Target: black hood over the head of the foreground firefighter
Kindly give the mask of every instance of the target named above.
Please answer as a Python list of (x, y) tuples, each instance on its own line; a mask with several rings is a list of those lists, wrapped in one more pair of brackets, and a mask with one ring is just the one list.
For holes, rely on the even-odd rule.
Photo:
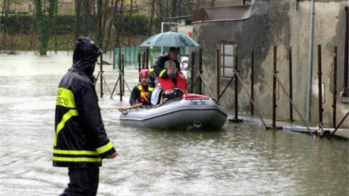
[(88, 77), (95, 71), (101, 49), (88, 37), (79, 37), (75, 42), (73, 67), (81, 69)]

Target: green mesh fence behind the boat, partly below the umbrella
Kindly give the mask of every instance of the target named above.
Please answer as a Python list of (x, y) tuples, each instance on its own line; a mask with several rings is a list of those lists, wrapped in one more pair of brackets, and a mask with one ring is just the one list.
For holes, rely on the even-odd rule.
[[(163, 47), (163, 51), (166, 54), (168, 52), (168, 47)], [(114, 69), (119, 69), (119, 53), (120, 56), (124, 54), (124, 66), (134, 66), (137, 68), (139, 62), (138, 62), (138, 53), (144, 53), (146, 52), (145, 47), (120, 47), (120, 48), (114, 48)], [(185, 47), (180, 48), (180, 53), (185, 54), (186, 50)], [(161, 55), (161, 47), (150, 47), (149, 48), (149, 67), (153, 65), (155, 59), (157, 56)]]

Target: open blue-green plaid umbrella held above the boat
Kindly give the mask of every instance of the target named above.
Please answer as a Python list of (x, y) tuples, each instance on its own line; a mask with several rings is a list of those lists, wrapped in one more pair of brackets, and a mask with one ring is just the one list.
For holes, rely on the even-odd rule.
[(163, 46), (163, 47), (198, 47), (199, 44), (192, 38), (177, 32), (165, 32), (151, 36), (145, 40), (141, 47)]

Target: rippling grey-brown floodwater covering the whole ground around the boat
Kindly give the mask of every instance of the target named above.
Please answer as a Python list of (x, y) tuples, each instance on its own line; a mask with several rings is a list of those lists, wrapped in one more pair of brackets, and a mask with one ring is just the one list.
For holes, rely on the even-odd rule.
[[(0, 195), (65, 189), (67, 168), (52, 166), (52, 143), (57, 86), (71, 64), (72, 56), (0, 55)], [(116, 73), (104, 69), (112, 90)], [(135, 74), (126, 71), (130, 88)], [(349, 195), (346, 141), (246, 123), (204, 131), (125, 127), (116, 108), (128, 97), (104, 93), (102, 117), (120, 156), (103, 161), (97, 195)]]

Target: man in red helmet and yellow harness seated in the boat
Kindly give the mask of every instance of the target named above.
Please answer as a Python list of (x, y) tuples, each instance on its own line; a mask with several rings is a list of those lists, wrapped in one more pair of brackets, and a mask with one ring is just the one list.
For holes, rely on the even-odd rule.
[(131, 92), (129, 103), (135, 105), (142, 103), (143, 105), (148, 105), (148, 83), (149, 83), (149, 70), (142, 69), (139, 73), (139, 78), (141, 82), (134, 86)]

